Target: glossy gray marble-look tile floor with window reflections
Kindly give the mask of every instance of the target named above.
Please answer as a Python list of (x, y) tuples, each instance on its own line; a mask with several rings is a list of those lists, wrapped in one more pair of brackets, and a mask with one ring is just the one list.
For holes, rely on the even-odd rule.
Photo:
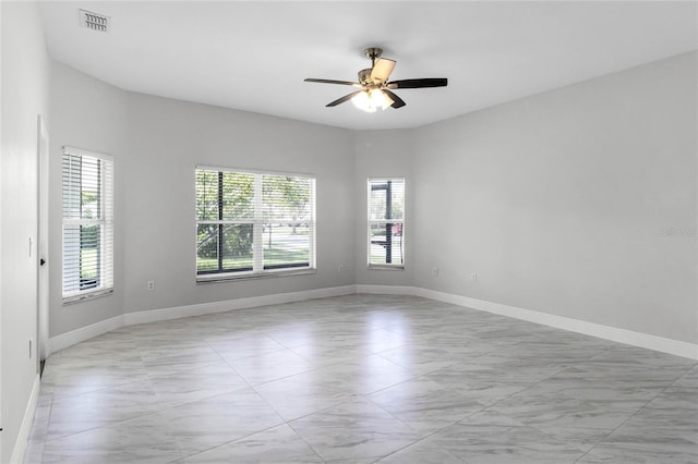
[(698, 463), (698, 364), (350, 295), (125, 327), (46, 363), (26, 463)]

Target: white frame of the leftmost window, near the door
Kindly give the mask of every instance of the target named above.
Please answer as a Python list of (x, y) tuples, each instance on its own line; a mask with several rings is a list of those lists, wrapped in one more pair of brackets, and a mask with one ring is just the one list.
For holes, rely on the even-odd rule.
[[(63, 167), (64, 157), (73, 156), (82, 158), (92, 158), (100, 161), (100, 182), (99, 182), (99, 200), (101, 216), (97, 219), (82, 219), (82, 218), (67, 218), (64, 216), (64, 205), (61, 207), (62, 218), (62, 300), (63, 304), (70, 304), (80, 302), (87, 298), (94, 298), (98, 296), (105, 296), (113, 293), (113, 184), (115, 184), (115, 162), (111, 155), (100, 154), (97, 151), (89, 151), (82, 148), (74, 148), (64, 146), (63, 154), (61, 156), (61, 166)], [(64, 174), (64, 173), (63, 173)], [(64, 200), (65, 180), (61, 181), (61, 202)], [(82, 191), (81, 191), (82, 196)], [(67, 279), (73, 280), (75, 272), (80, 276), (80, 264), (76, 267), (70, 267), (67, 262), (67, 242), (65, 242), (65, 227), (67, 225), (100, 225), (99, 235), (99, 284), (95, 288), (67, 290), (67, 286), (73, 286), (67, 284)], [(74, 252), (73, 252), (74, 253)], [(76, 268), (76, 269), (75, 269)]]

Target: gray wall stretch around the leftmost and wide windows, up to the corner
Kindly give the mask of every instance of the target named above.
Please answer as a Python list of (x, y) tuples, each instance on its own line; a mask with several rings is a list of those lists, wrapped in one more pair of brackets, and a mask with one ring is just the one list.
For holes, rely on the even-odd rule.
[[(51, 337), (125, 313), (353, 283), (352, 132), (132, 94), (59, 63), (51, 84)], [(112, 155), (116, 173), (115, 293), (65, 306), (63, 145)], [(314, 174), (317, 272), (196, 284), (197, 164)], [(148, 280), (155, 291), (147, 291)]]

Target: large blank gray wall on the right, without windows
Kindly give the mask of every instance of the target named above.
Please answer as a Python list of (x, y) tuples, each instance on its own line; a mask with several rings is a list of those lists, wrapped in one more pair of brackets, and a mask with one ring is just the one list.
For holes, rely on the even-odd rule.
[(419, 130), (414, 283), (696, 343), (696, 82), (693, 52)]

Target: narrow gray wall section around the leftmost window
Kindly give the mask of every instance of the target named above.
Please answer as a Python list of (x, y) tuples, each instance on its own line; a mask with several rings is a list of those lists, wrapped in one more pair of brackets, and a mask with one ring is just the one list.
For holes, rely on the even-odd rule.
[(49, 330), (50, 337), (89, 326), (123, 312), (123, 221), (115, 223), (115, 293), (70, 305), (62, 304), (61, 155), (63, 146), (112, 155), (115, 158), (115, 216), (124, 217), (123, 171), (127, 154), (127, 108), (123, 91), (52, 62), (49, 162)]

